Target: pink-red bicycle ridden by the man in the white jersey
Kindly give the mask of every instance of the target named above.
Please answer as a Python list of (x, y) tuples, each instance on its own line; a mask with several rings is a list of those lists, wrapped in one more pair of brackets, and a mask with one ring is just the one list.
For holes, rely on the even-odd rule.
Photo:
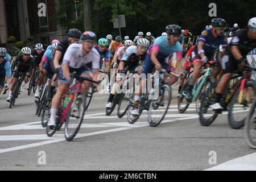
[[(56, 127), (54, 129), (51, 129), (48, 125), (46, 127), (46, 133), (48, 137), (51, 137), (55, 133), (56, 129), (60, 128), (64, 122), (65, 122), (65, 127), (64, 127), (65, 139), (67, 141), (71, 141), (76, 136), (76, 134), (80, 129), (82, 119), (84, 118), (85, 106), (86, 106), (86, 97), (83, 96), (84, 94), (80, 94), (82, 82), (90, 81), (96, 84), (100, 83), (100, 82), (91, 80), (90, 78), (87, 78), (87, 77), (80, 77), (78, 75), (75, 75), (75, 73), (71, 74), (71, 78), (75, 78), (79, 82), (75, 85), (69, 86), (68, 92), (63, 96), (63, 99), (61, 101), (61, 107), (56, 114)], [(77, 110), (73, 108), (75, 105), (77, 105)], [(47, 122), (49, 121), (50, 115), (51, 113), (49, 112)], [(76, 120), (77, 123), (73, 124), (72, 120)]]

